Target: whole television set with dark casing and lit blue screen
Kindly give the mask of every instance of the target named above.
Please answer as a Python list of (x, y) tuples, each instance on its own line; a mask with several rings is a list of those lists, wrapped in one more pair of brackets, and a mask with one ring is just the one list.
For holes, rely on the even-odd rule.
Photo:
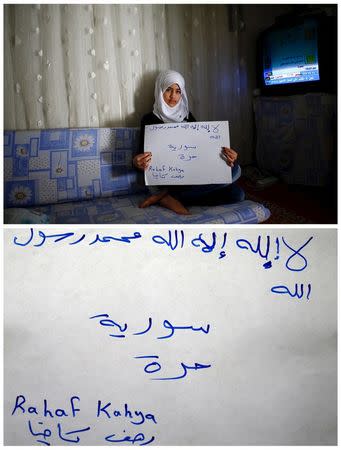
[(336, 20), (284, 17), (261, 33), (258, 77), (263, 95), (336, 91)]

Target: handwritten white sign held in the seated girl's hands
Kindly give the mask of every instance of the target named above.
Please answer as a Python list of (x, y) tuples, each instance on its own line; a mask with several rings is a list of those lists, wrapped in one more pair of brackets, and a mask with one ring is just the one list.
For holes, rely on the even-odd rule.
[(147, 125), (144, 151), (152, 152), (146, 185), (227, 184), (231, 168), (222, 156), (230, 147), (228, 122)]

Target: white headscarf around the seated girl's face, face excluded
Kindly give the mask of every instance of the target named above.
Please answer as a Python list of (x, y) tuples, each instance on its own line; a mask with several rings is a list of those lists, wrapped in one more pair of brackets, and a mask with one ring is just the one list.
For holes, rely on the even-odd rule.
[[(163, 99), (165, 90), (176, 83), (181, 89), (179, 102), (170, 107)], [(185, 80), (179, 72), (166, 70), (161, 72), (155, 81), (155, 102), (153, 113), (163, 122), (183, 122), (189, 114), (188, 99), (185, 90)]]

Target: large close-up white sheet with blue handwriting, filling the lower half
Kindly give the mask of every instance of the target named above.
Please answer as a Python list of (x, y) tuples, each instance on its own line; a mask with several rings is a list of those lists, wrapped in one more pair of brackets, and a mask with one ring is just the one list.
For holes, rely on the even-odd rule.
[(336, 444), (336, 247), (327, 229), (5, 230), (5, 444)]

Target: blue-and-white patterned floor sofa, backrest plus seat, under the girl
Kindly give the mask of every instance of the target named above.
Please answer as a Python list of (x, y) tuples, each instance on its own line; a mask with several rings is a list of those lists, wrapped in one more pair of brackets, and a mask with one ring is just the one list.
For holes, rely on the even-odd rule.
[(156, 205), (138, 208), (146, 195), (143, 174), (132, 166), (138, 138), (138, 128), (5, 131), (5, 223), (20, 223), (28, 211), (37, 223), (43, 217), (64, 224), (239, 224), (270, 216), (252, 201), (192, 207), (190, 216)]

